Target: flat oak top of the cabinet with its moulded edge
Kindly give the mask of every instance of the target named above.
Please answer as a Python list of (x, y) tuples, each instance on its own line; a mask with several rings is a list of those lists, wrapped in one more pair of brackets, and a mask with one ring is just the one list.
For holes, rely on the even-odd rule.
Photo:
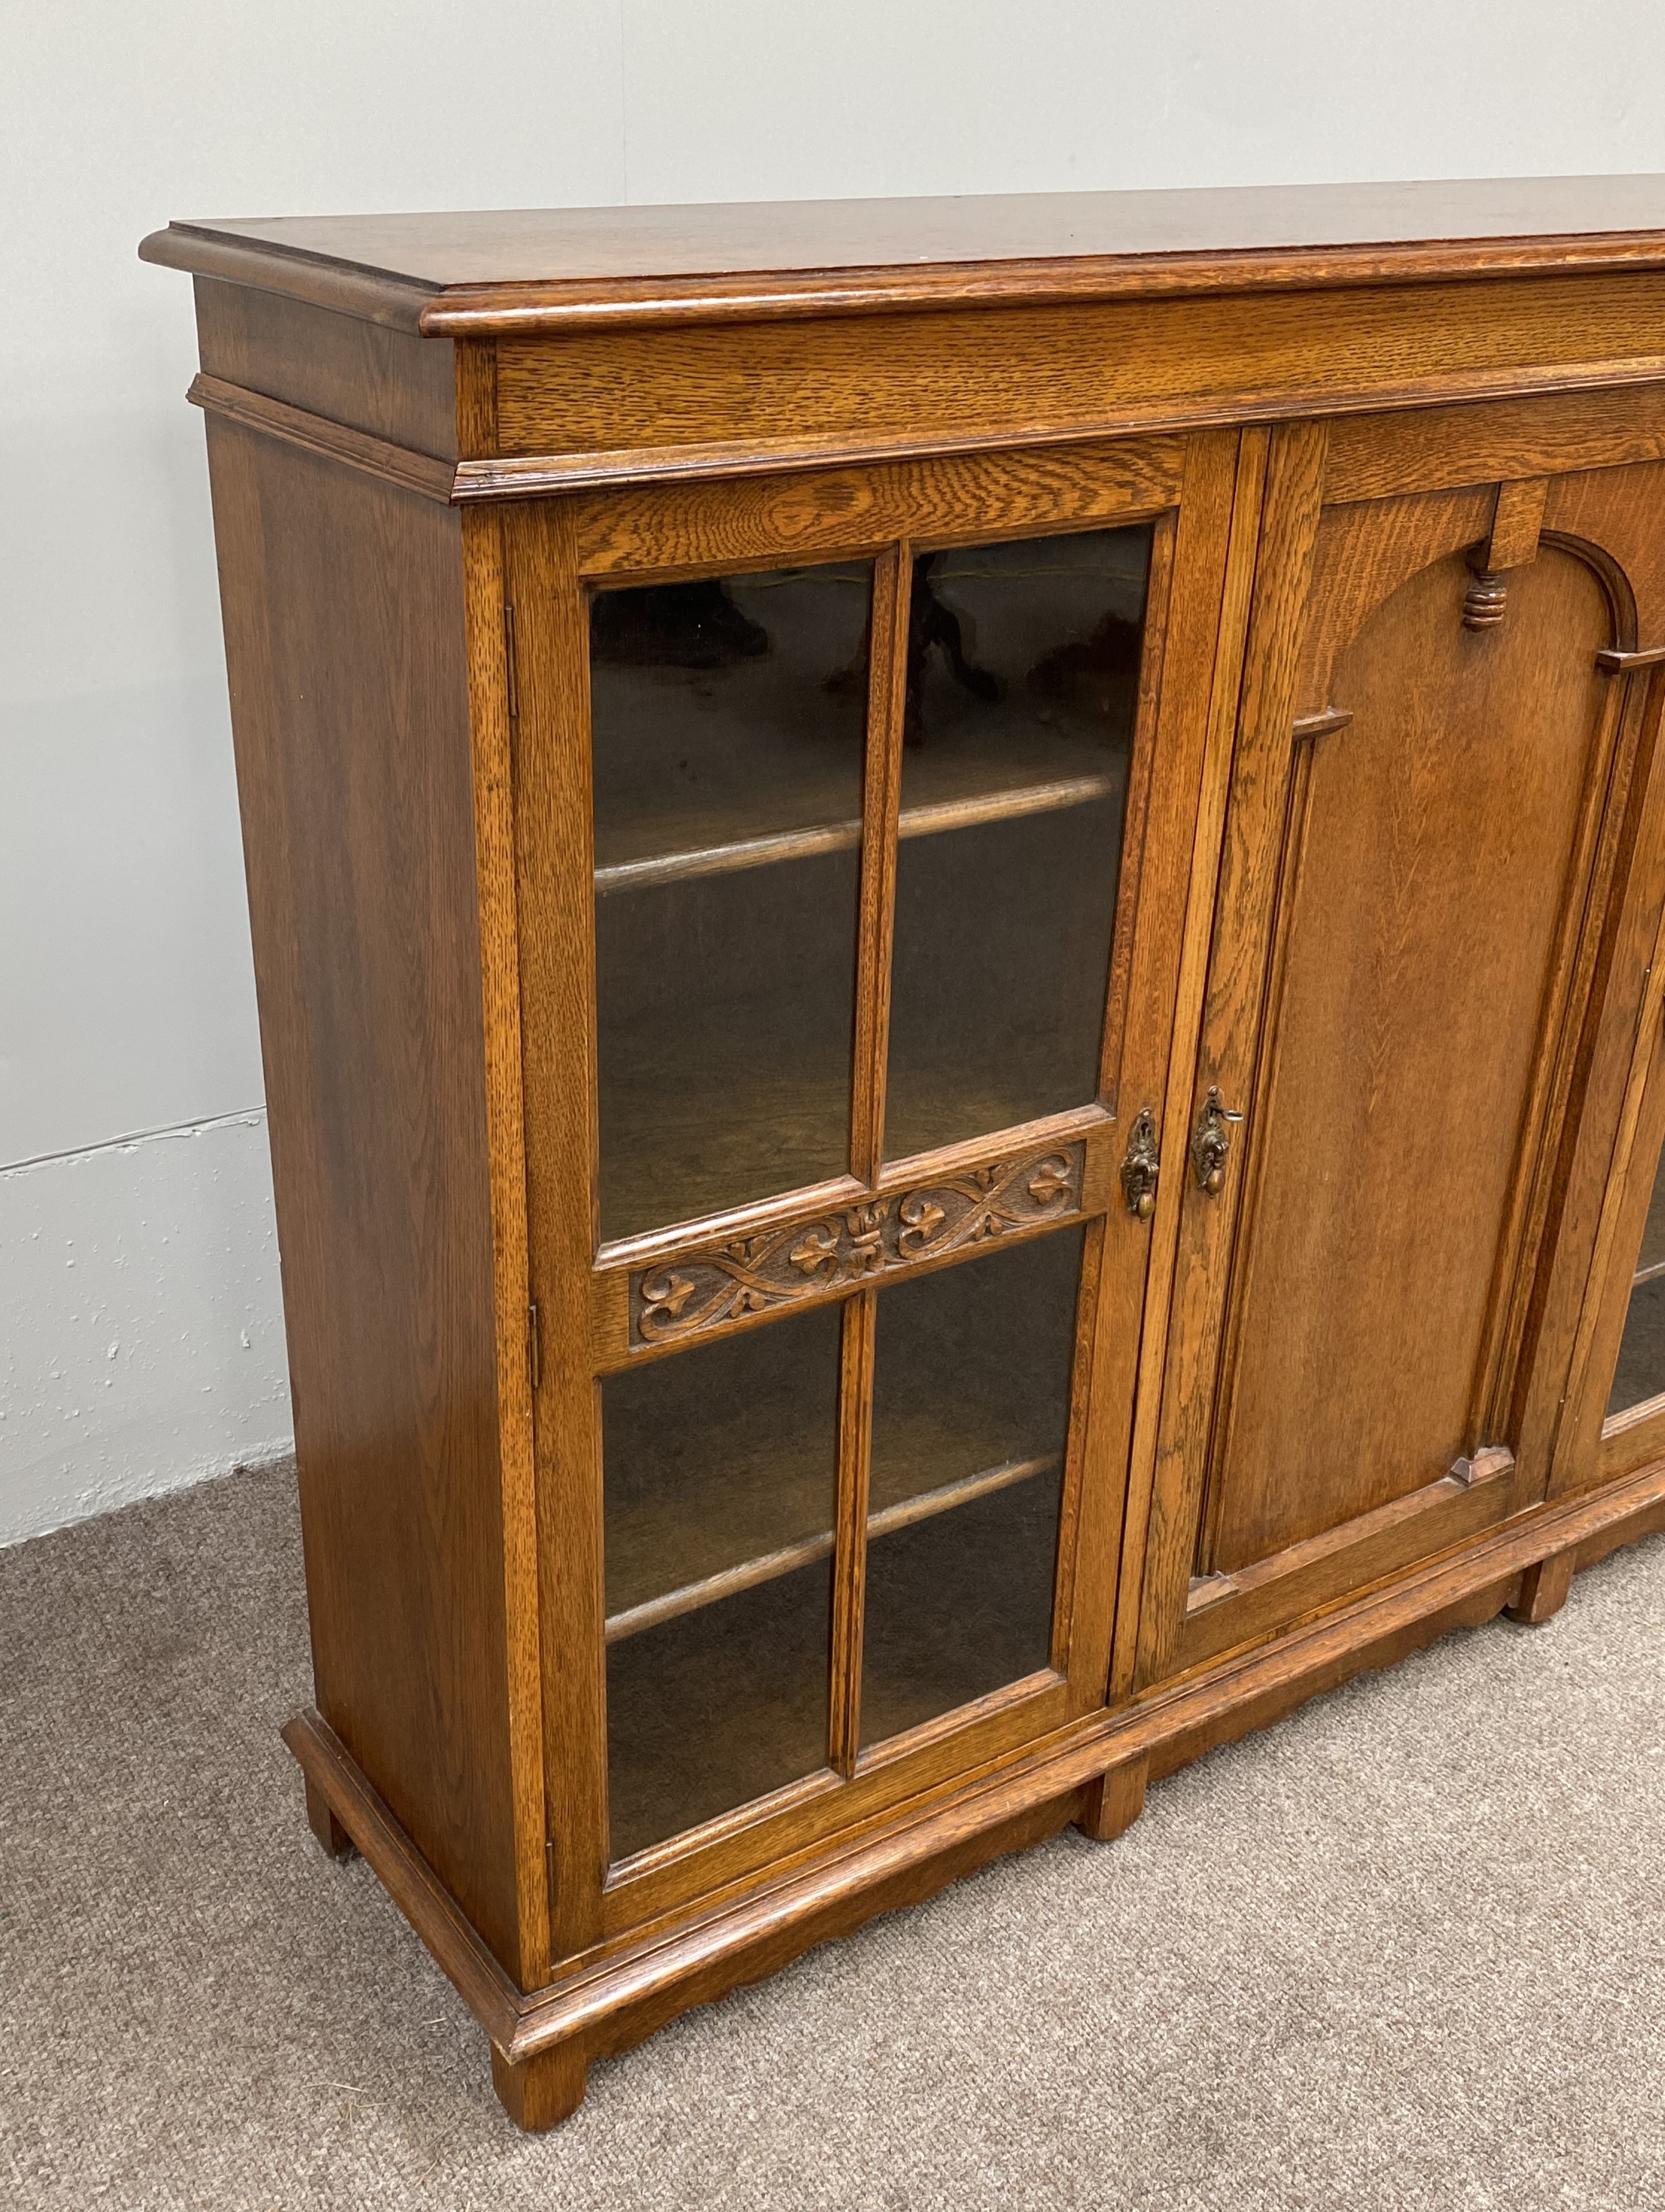
[(184, 221), (144, 259), (431, 336), (1665, 265), (1665, 177)]

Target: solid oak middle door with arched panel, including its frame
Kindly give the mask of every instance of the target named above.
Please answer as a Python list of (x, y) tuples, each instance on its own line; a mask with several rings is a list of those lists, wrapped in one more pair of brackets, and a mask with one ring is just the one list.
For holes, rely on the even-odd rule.
[(1665, 635), (1665, 469), (1592, 442), (1274, 438), (1123, 1690), (1546, 1495)]

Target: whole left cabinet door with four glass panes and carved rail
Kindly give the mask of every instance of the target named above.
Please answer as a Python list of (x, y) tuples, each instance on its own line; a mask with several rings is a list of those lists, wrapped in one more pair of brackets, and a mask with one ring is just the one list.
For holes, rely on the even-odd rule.
[(568, 1953), (1103, 1701), (1236, 447), (504, 522)]

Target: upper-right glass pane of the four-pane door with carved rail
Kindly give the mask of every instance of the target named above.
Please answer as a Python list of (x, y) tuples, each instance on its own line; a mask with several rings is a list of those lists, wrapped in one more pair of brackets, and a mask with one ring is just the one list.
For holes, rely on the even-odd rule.
[(1150, 524), (913, 564), (891, 1159), (1099, 1091)]

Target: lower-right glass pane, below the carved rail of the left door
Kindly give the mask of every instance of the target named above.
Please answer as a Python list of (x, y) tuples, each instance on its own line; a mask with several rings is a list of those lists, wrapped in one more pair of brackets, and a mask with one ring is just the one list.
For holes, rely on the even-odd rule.
[(1081, 1230), (878, 1296), (862, 1745), (1048, 1663)]

